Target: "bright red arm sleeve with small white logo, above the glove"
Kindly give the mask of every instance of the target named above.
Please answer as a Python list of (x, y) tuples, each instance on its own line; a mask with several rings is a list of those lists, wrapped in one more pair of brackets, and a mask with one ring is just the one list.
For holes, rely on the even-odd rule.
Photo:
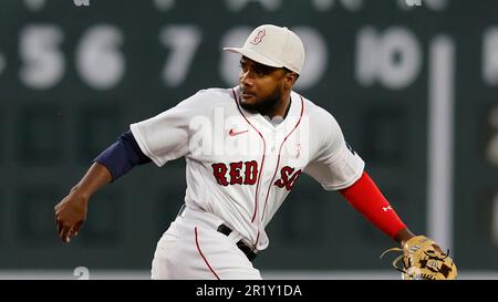
[(406, 228), (366, 171), (352, 186), (339, 191), (353, 208), (387, 236), (394, 238)]

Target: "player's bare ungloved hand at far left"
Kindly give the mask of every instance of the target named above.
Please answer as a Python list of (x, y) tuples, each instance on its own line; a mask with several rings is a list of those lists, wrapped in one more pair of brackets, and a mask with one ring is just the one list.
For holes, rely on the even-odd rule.
[(69, 243), (86, 219), (89, 198), (71, 191), (54, 207), (59, 238)]

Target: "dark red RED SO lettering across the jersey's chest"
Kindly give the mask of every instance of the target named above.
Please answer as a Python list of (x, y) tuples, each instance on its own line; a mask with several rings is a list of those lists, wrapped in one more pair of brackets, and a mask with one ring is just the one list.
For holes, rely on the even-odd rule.
[[(256, 185), (258, 177), (258, 162), (237, 162), (237, 163), (216, 163), (211, 165), (212, 175), (215, 176), (218, 185), (227, 187), (228, 185)], [(242, 167), (245, 167), (245, 173), (241, 173)], [(301, 169), (294, 171), (294, 168), (284, 166), (280, 170), (280, 179), (274, 181), (279, 188), (286, 188), (288, 191), (292, 189), (295, 181), (301, 175)]]

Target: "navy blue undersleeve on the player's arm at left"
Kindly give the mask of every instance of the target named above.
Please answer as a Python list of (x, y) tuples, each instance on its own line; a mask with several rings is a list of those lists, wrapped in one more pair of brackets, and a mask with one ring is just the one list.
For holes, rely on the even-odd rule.
[(116, 143), (101, 153), (93, 162), (104, 165), (115, 181), (136, 165), (151, 163), (133, 137), (131, 131), (123, 133)]

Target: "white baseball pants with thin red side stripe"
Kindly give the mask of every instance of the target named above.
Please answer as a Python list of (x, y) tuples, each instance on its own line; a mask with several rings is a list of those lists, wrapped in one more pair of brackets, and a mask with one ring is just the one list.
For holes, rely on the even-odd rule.
[(240, 235), (218, 232), (221, 223), (209, 212), (186, 207), (157, 242), (152, 279), (261, 279), (236, 244)]

